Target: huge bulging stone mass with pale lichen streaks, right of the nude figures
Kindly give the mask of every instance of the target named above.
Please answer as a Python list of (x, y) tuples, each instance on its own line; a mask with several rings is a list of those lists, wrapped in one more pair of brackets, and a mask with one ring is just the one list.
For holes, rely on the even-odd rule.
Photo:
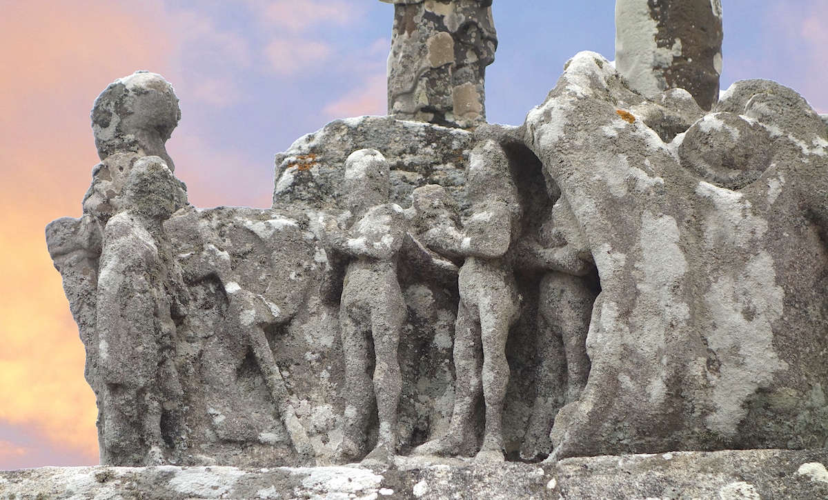
[[(813, 114), (789, 94), (762, 99)], [(825, 140), (758, 121), (768, 168), (728, 190), (680, 165), (677, 148), (702, 146), (691, 132), (667, 144), (619, 113), (641, 102), (581, 53), (527, 117), (600, 276), (589, 380), (556, 417), (553, 457), (823, 445)], [(731, 132), (709, 129), (725, 136), (714, 143)]]

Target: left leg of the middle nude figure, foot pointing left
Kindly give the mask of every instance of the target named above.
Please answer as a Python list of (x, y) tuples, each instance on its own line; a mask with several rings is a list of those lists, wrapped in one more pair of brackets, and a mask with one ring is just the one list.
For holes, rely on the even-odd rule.
[(466, 439), (471, 438), (474, 404), (480, 395), (483, 351), (480, 347), (480, 323), (477, 306), (460, 300), (455, 323), (455, 407), (449, 430), (442, 437), (417, 446), (413, 454), (459, 454)]

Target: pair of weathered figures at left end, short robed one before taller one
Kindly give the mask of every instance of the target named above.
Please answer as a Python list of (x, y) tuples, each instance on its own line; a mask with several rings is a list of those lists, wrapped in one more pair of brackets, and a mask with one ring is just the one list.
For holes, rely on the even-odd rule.
[(102, 161), (84, 214), (46, 227), (101, 409), (103, 463), (163, 463), (180, 439), (181, 387), (170, 352), (181, 280), (162, 228), (187, 204), (164, 146), (179, 115), (160, 75), (110, 84), (92, 110)]

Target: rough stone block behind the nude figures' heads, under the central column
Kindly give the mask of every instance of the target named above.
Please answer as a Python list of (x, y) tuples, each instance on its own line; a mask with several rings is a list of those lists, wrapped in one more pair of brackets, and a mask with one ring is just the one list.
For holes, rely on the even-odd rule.
[(410, 206), (414, 188), (443, 185), (461, 206), (465, 168), (472, 149), (470, 132), (392, 117), (336, 120), (301, 137), (276, 156), (273, 207), (345, 209), (345, 159), (359, 149), (374, 149), (391, 169), (392, 203)]

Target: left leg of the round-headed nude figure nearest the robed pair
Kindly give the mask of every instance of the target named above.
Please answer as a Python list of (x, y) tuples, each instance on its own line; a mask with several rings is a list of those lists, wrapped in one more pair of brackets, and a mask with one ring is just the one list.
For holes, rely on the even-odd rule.
[(368, 410), (373, 382), (368, 376), (367, 308), (343, 302), (339, 310), (339, 329), (345, 355), (345, 428), (343, 458), (359, 459), (364, 454)]

